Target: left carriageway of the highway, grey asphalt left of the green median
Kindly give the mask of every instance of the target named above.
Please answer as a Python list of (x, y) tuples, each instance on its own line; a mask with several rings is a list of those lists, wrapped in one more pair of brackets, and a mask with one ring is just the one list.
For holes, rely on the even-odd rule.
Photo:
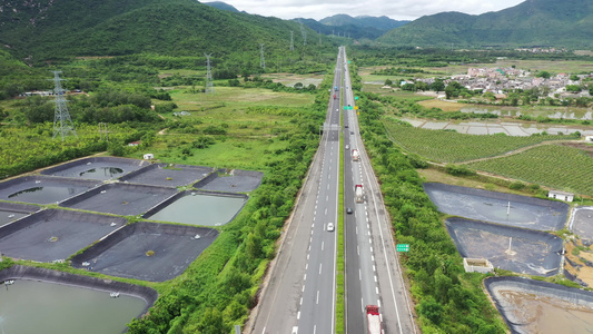
[[(339, 89), (342, 80), (338, 56), (334, 87)], [(332, 90), (319, 149), (289, 219), (254, 324), (246, 328), (250, 333), (334, 333), (342, 127), (340, 92)], [(334, 230), (328, 230), (329, 223)]]

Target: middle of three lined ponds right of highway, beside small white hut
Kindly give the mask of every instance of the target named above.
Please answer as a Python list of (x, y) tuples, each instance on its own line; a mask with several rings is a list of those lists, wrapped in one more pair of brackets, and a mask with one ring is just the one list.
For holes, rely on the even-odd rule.
[[(494, 267), (515, 273), (559, 273), (563, 245), (555, 235), (464, 218), (447, 218), (445, 225), (463, 257), (486, 258)], [(506, 253), (511, 238), (512, 255)]]

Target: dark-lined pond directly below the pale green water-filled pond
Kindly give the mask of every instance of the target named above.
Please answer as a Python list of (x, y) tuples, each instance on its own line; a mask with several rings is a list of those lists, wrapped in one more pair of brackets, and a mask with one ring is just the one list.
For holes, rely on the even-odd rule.
[[(165, 282), (180, 275), (217, 236), (214, 228), (140, 222), (118, 229), (71, 261), (76, 268)], [(154, 252), (150, 256), (149, 250)]]

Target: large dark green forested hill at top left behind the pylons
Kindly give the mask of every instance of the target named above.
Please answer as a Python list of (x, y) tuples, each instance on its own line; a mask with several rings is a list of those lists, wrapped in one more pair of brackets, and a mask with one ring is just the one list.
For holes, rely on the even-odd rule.
[[(0, 43), (33, 60), (69, 56), (231, 53), (288, 49), (298, 23), (195, 0), (4, 0)], [(315, 32), (309, 31), (315, 38)], [(295, 46), (299, 43), (295, 33)]]

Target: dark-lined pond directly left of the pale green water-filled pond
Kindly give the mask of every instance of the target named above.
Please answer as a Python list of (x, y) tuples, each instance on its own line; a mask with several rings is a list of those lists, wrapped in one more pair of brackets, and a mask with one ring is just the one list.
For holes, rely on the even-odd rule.
[(132, 184), (106, 184), (60, 206), (115, 215), (140, 215), (177, 193), (176, 188)]

